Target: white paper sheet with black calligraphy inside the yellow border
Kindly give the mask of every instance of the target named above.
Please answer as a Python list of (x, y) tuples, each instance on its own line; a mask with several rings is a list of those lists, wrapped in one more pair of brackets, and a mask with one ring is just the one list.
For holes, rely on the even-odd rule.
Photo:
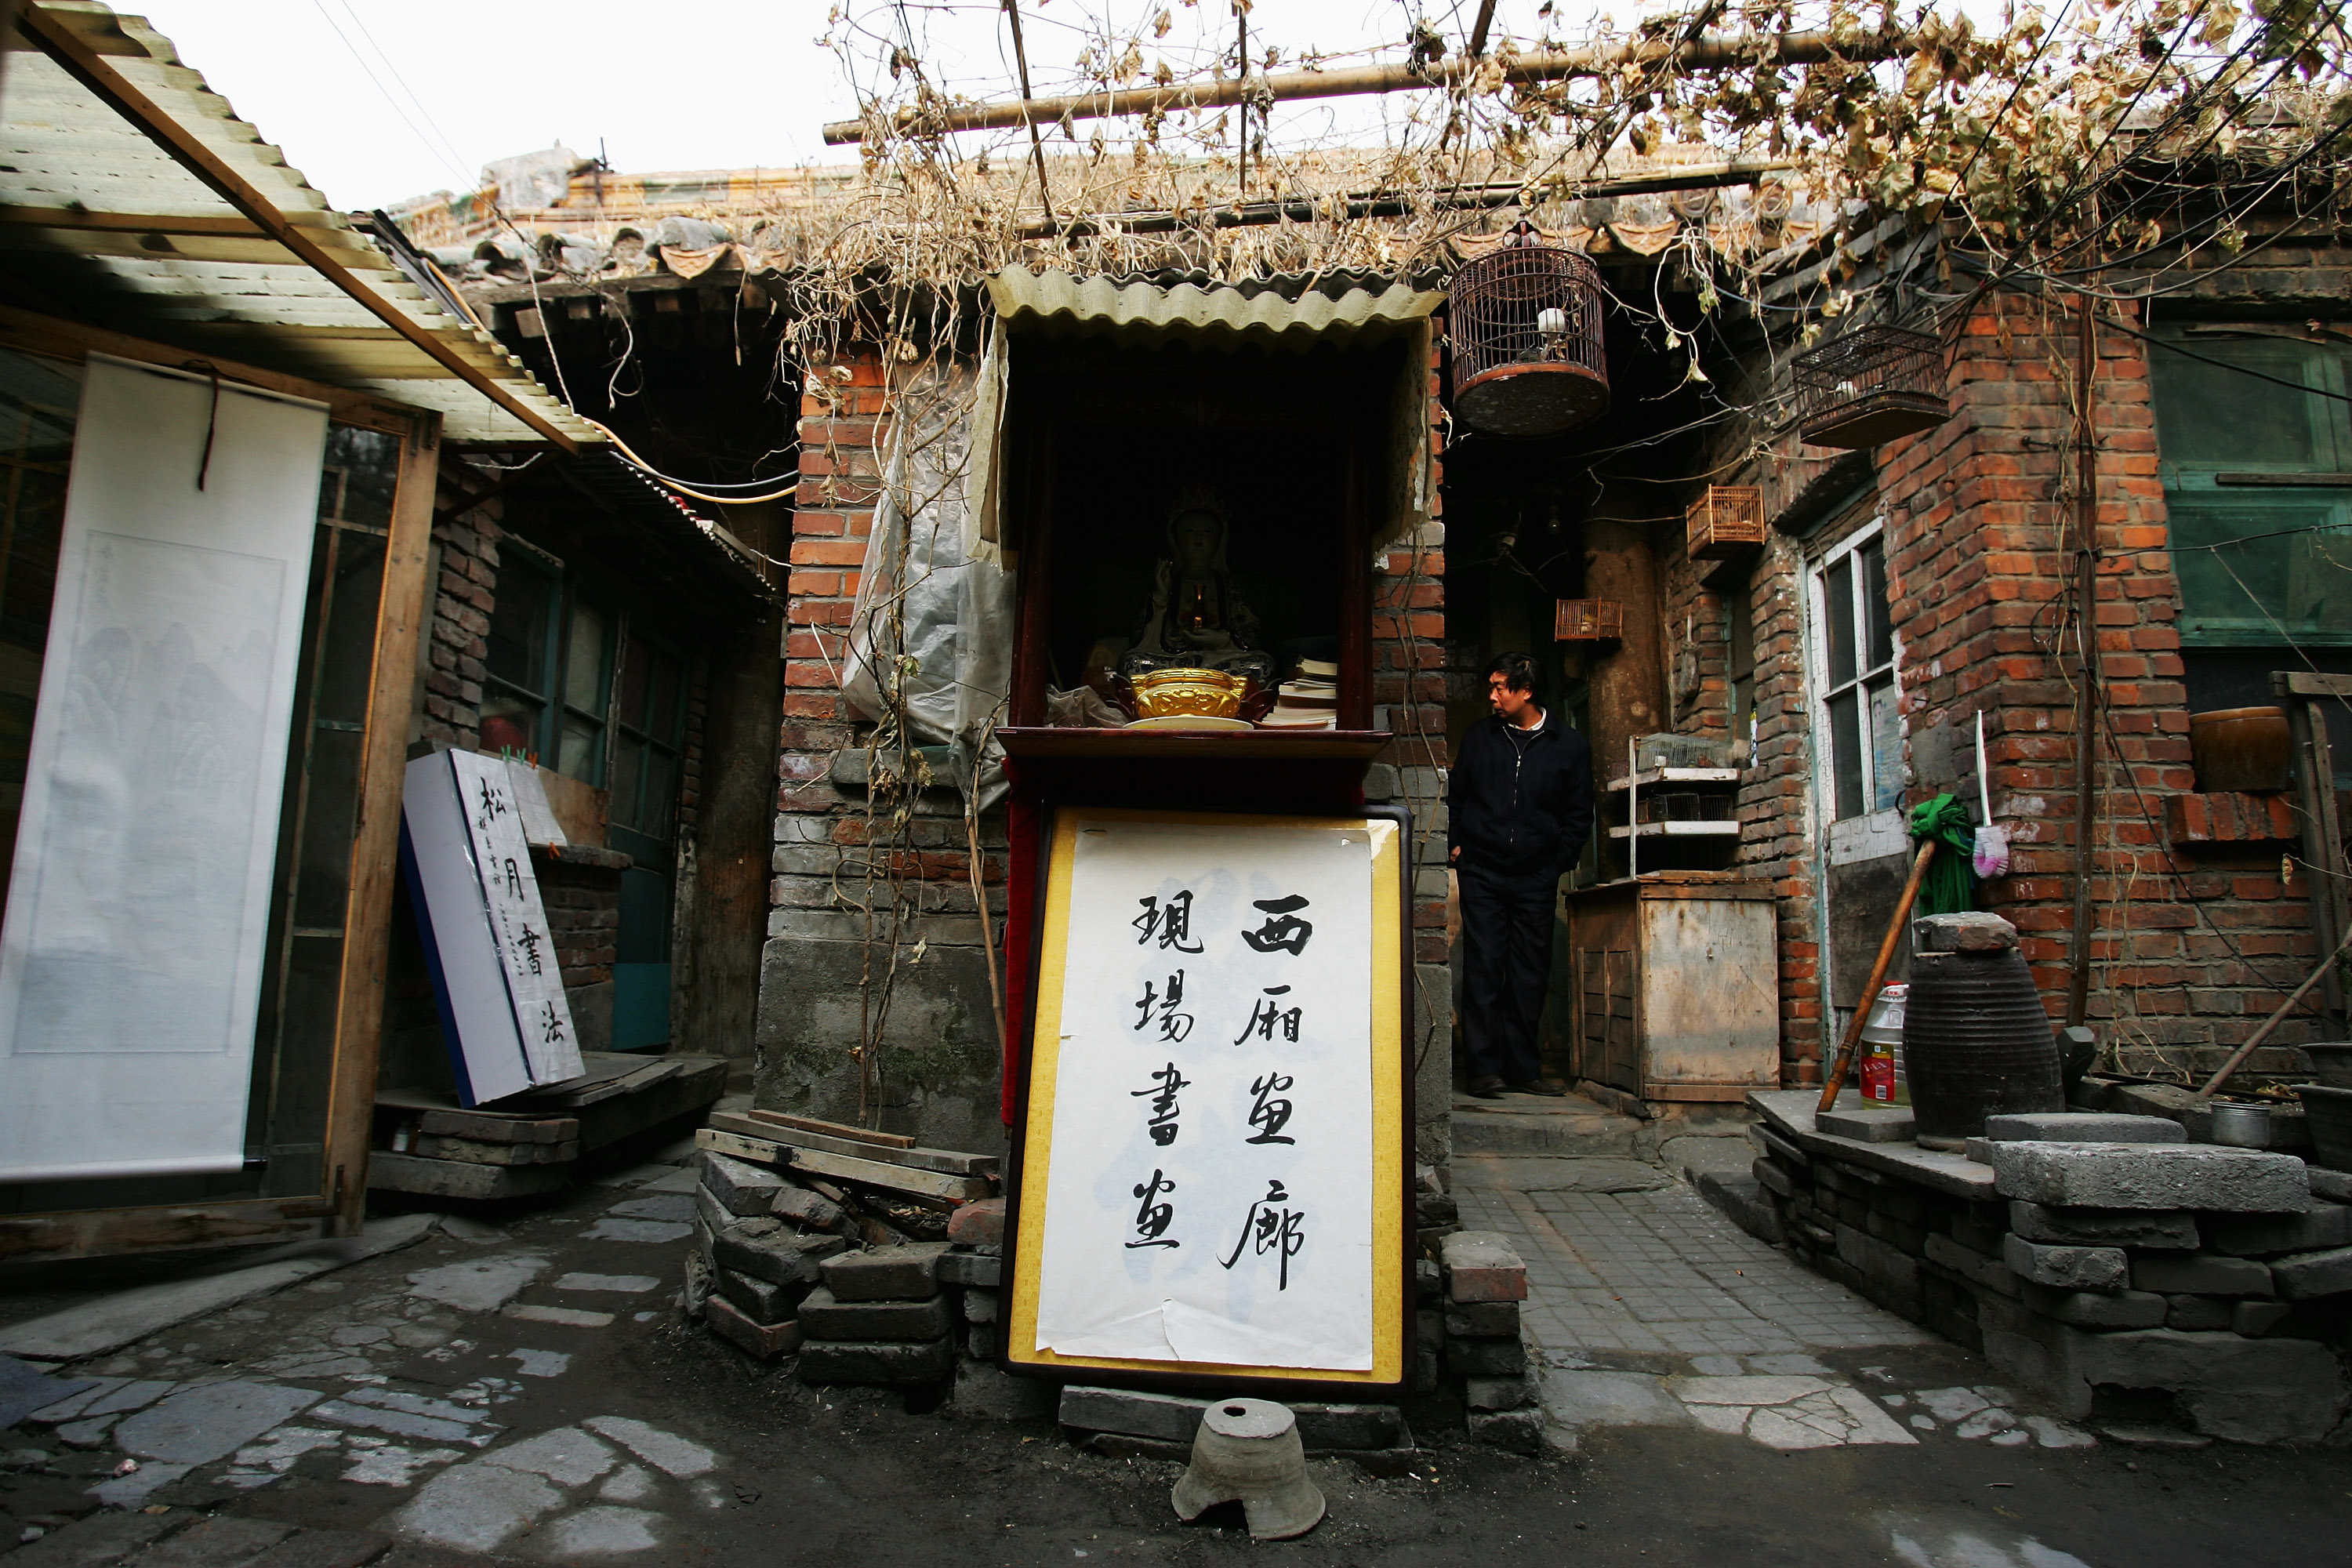
[[(1087, 820), (1037, 1347), (1374, 1366), (1374, 835)], [(1044, 1041), (1040, 1041), (1044, 1044)]]

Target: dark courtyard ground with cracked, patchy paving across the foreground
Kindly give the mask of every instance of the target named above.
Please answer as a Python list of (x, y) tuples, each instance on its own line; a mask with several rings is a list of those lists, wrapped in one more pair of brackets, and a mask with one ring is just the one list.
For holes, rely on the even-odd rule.
[[(1075, 1450), (1051, 1422), (809, 1389), (682, 1321), (687, 1244), (635, 1229), (673, 1222), (647, 1201), (689, 1185), (670, 1164), (680, 1157), (499, 1222), (456, 1220), (59, 1368), (96, 1382), (0, 1429), (5, 1568), (1223, 1563), (1268, 1552), (1237, 1519), (1176, 1523), (1176, 1465)], [(1703, 1284), (1658, 1272), (1661, 1246), (1717, 1246), (1708, 1211), (1686, 1211), (1686, 1190), (1653, 1164), (1609, 1164), (1524, 1171), (1526, 1204), (1501, 1199), (1543, 1215), (1550, 1194), (1569, 1241), (1590, 1215), (1616, 1213), (1569, 1248), (1599, 1284), (1571, 1284), (1559, 1258), (1543, 1291), (1602, 1291), (1649, 1269), (1653, 1300), (1595, 1321), (1623, 1333), (1679, 1305), (1684, 1316), (1649, 1324), (1726, 1333), (1705, 1269), (1745, 1281), (1750, 1260), (1700, 1258)], [(1780, 1300), (1783, 1281), (1743, 1291), (1719, 1295), (1755, 1307)], [(1795, 1284), (1783, 1295), (1809, 1300)], [(71, 1298), (0, 1286), (0, 1324), (54, 1307)], [(1867, 1324), (1842, 1312), (1816, 1302), (1828, 1328)], [(1950, 1345), (1915, 1331), (1867, 1345), (1790, 1338), (1712, 1349), (1677, 1349), (1665, 1333), (1656, 1349), (1543, 1340), (1548, 1378), (1583, 1380), (1557, 1382), (1555, 1403), (1573, 1387), (1583, 1403), (1566, 1408), (1613, 1410), (1576, 1429), (1573, 1455), (1475, 1448), (1458, 1410), (1421, 1403), (1425, 1462), (1395, 1479), (1317, 1462), (1331, 1514), (1277, 1549), (1334, 1566), (1545, 1568), (1569, 1554), (1644, 1568), (2352, 1561), (2340, 1528), (2352, 1455), (2042, 1446), (2030, 1403)]]

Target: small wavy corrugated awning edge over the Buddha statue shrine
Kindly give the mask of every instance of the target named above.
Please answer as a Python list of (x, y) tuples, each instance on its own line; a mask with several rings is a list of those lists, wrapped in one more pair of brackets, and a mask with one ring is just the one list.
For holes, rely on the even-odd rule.
[(1439, 289), (1416, 289), (1409, 282), (1369, 287), (1352, 275), (1348, 287), (1282, 289), (1258, 284), (1178, 282), (1174, 287), (1075, 273), (1004, 268), (988, 277), (988, 294), (1007, 322), (1021, 317), (1068, 320), (1073, 324), (1143, 327), (1188, 336), (1279, 339), (1287, 334), (1352, 336), (1371, 329), (1409, 327), (1437, 310), (1446, 296)]

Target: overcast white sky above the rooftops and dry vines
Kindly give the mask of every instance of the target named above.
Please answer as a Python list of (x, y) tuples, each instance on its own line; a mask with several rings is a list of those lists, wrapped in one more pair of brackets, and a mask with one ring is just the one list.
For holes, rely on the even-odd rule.
[[(381, 207), (426, 190), (473, 188), (492, 158), (562, 141), (588, 155), (597, 139), (616, 169), (741, 169), (847, 162), (818, 127), (854, 113), (840, 63), (816, 40), (826, 0), (115, 0), (143, 12), (238, 115), (287, 150), (339, 207)], [(1503, 0), (1534, 19), (1538, 0)], [(858, 14), (894, 12), (858, 0)], [(1134, 19), (1155, 0), (1023, 0), (1033, 85), (1051, 92), (1082, 47), (1082, 24)], [(1171, 0), (1171, 59), (1230, 35), (1230, 2)], [(1402, 45), (1425, 14), (1461, 40), (1463, 0), (1256, 0), (1254, 49), (1348, 52)], [(1571, 0), (1562, 12), (1581, 12)], [(1632, 14), (1637, 2), (1618, 7)], [(1009, 78), (1011, 54), (993, 0), (908, 0), (924, 59), (962, 92)], [(1211, 31), (1214, 24), (1214, 31)], [(409, 96), (414, 94), (414, 99)], [(1421, 96), (1421, 94), (1414, 94)], [(400, 113), (395, 113), (395, 106)], [(1350, 101), (1277, 115), (1301, 134), (1378, 129), (1395, 103)], [(1296, 118), (1294, 118), (1296, 115)]]

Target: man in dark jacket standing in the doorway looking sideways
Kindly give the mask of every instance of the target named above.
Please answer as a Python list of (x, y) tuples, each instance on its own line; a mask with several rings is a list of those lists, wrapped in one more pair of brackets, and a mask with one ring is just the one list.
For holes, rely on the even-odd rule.
[(1536, 1023), (1552, 980), (1552, 900), (1592, 835), (1592, 745), (1536, 705), (1536, 661), (1486, 665), (1489, 717), (1463, 736), (1446, 785), (1446, 853), (1461, 886), (1463, 1048), (1470, 1093), (1557, 1095)]

